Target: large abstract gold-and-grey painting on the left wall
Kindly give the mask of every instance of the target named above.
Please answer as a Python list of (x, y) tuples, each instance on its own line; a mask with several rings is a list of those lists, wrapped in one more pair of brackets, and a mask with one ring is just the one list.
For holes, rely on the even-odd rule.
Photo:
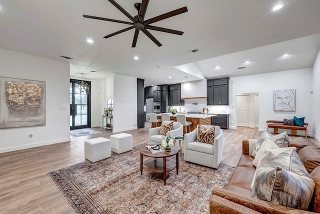
[(45, 125), (45, 82), (0, 77), (0, 128)]

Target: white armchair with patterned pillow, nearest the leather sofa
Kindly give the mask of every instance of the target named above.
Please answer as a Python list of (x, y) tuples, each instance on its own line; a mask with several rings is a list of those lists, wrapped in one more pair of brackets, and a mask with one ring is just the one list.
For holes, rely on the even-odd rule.
[[(205, 128), (212, 125), (203, 125)], [(184, 160), (217, 168), (222, 160), (223, 131), (215, 125), (213, 145), (196, 141), (197, 128), (184, 134)]]

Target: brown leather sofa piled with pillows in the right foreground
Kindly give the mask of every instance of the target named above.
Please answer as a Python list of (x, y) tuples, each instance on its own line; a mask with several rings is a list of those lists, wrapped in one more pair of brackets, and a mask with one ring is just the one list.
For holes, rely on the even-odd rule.
[(316, 145), (305, 137), (297, 137), (289, 143), (289, 146), (296, 147), (297, 152), (305, 146), (310, 146), (305, 148), (308, 149), (307, 158), (310, 159), (311, 157), (312, 159), (314, 157), (314, 160), (304, 162), (301, 157), (302, 152), (301, 155), (298, 152), (308, 172), (312, 170), (309, 173), (315, 182), (313, 198), (309, 204), (308, 211), (289, 208), (251, 197), (250, 185), (255, 172), (255, 166), (252, 165), (254, 157), (249, 155), (248, 140), (243, 140), (242, 155), (234, 168), (228, 185), (224, 189), (215, 187), (212, 190), (210, 213), (320, 213), (320, 159), (319, 153), (314, 152), (314, 146)]

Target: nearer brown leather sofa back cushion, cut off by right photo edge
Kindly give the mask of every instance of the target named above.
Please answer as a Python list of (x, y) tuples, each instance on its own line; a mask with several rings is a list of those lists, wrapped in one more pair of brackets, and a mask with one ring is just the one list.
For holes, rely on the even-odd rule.
[(311, 173), (313, 169), (320, 165), (320, 147), (316, 145), (308, 145), (301, 148), (298, 152), (306, 170)]

